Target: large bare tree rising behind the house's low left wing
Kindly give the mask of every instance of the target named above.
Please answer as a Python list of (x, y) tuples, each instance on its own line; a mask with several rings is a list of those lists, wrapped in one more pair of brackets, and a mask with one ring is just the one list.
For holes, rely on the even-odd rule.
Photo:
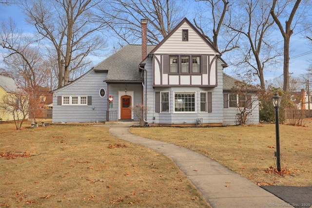
[(89, 62), (85, 58), (103, 49), (100, 35), (105, 23), (96, 24), (94, 8), (101, 0), (20, 0), (27, 22), (34, 25), (48, 50), (54, 51), (58, 87), (68, 84), (70, 73)]

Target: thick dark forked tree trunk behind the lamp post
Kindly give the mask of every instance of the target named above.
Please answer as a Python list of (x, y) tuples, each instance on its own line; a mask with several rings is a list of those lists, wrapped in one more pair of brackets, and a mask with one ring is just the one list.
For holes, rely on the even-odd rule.
[[(292, 24), (292, 20), (295, 16), (295, 13), (299, 7), (301, 0), (296, 0), (293, 7), (292, 7), (292, 12), (289, 15), (289, 18), (285, 22), (285, 30), (283, 28), (282, 23), (280, 22), (280, 19), (278, 19), (278, 16), (275, 13), (275, 6), (276, 6), (276, 0), (273, 0), (273, 5), (271, 7), (271, 15), (277, 24), (283, 38), (284, 38), (284, 64), (283, 64), (283, 70), (284, 70), (284, 85), (283, 85), (283, 90), (285, 92), (289, 92), (289, 47), (290, 47), (290, 39), (293, 34), (293, 28), (296, 24)], [(286, 6), (288, 5), (289, 2), (285, 3), (282, 7), (278, 8), (280, 11), (277, 12), (282, 12)]]

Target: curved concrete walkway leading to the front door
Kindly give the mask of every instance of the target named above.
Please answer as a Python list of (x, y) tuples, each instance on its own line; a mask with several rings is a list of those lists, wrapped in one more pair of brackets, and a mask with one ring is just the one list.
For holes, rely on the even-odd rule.
[(120, 139), (146, 146), (170, 157), (213, 208), (292, 207), (204, 155), (173, 144), (134, 135), (128, 131), (130, 125), (107, 126), (110, 127), (110, 133)]

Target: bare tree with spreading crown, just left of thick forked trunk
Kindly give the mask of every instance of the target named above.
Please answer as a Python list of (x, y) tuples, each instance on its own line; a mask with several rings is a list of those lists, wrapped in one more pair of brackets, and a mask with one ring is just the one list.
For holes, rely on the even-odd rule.
[(270, 36), (274, 24), (270, 15), (270, 5), (263, 0), (245, 0), (235, 6), (235, 13), (231, 15), (226, 26), (241, 35), (240, 58), (236, 55), (234, 60), (238, 61), (232, 63), (238, 68), (243, 68), (245, 73), (254, 73), (261, 88), (265, 89), (264, 71), (281, 56)]

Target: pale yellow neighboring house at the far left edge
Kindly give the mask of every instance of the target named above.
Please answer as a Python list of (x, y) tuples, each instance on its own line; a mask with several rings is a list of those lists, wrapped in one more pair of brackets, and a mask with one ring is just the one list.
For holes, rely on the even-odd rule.
[[(7, 76), (0, 75), (0, 105), (3, 103), (3, 96), (8, 94), (15, 94), (18, 91), (18, 86), (15, 81)], [(1, 121), (13, 121), (12, 113), (6, 112), (0, 108)], [(28, 118), (28, 117), (27, 117)]]

